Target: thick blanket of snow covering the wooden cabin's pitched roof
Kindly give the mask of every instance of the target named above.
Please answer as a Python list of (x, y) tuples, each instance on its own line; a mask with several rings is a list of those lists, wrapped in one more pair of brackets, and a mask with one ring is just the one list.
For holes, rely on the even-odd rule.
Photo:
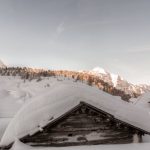
[(109, 95), (95, 87), (76, 82), (60, 82), (50, 91), (25, 104), (8, 125), (1, 145), (32, 135), (74, 108), (81, 101), (91, 104), (115, 118), (150, 132), (150, 114), (143, 108)]

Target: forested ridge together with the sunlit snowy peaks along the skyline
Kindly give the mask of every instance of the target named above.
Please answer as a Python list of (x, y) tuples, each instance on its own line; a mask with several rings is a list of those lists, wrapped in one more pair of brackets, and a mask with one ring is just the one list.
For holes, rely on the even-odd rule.
[(119, 75), (106, 72), (104, 69), (95, 68), (92, 71), (68, 71), (68, 70), (43, 70), (33, 68), (8, 67), (1, 68), (2, 76), (20, 76), (25, 80), (39, 80), (41, 77), (63, 76), (66, 78), (81, 81), (90, 86), (96, 86), (109, 94), (120, 96), (123, 100), (129, 101), (141, 94), (150, 91), (148, 85), (133, 85)]

